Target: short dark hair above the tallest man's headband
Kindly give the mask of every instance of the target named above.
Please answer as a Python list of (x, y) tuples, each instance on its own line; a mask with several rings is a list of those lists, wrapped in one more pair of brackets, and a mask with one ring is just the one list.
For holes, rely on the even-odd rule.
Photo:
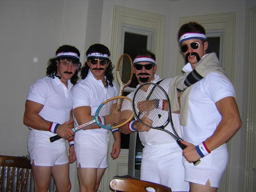
[(202, 25), (200, 25), (197, 22), (189, 22), (183, 24), (178, 31), (178, 40), (179, 38), (184, 34), (184, 33), (189, 33), (189, 32), (194, 32), (194, 33), (205, 33), (205, 28), (203, 28)]

